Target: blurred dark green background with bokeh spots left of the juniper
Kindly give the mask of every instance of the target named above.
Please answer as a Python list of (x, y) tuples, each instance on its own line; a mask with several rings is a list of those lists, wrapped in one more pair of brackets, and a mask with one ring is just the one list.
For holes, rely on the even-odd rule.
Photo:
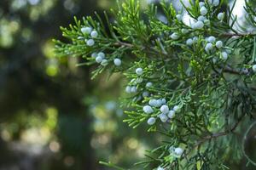
[(66, 41), (59, 27), (74, 15), (115, 7), (115, 0), (0, 1), (0, 170), (131, 167), (160, 142), (122, 122), (120, 75), (91, 81), (93, 67), (53, 53), (51, 39)]

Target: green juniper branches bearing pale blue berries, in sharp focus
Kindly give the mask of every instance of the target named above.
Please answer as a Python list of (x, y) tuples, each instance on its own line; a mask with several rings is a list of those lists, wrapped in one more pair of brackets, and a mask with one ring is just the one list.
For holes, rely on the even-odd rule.
[[(225, 11), (223, 2), (189, 2), (182, 4), (190, 23), (172, 4), (150, 4), (142, 14), (139, 3), (129, 0), (113, 10), (113, 22), (105, 14), (108, 28), (97, 14), (97, 20), (75, 18), (74, 26), (61, 27), (70, 42), (55, 40), (58, 56), (98, 63), (93, 77), (108, 70), (129, 80), (124, 122), (134, 128), (148, 122), (148, 132), (166, 137), (148, 151), (149, 161), (137, 163), (145, 168), (226, 169), (225, 161), (241, 159), (242, 150), (232, 150), (241, 145), (235, 131), (242, 133), (241, 122), (254, 120), (255, 34), (233, 16), (236, 2)], [(159, 20), (159, 8), (166, 21)], [(245, 26), (255, 31), (255, 7), (247, 2), (245, 8)]]

